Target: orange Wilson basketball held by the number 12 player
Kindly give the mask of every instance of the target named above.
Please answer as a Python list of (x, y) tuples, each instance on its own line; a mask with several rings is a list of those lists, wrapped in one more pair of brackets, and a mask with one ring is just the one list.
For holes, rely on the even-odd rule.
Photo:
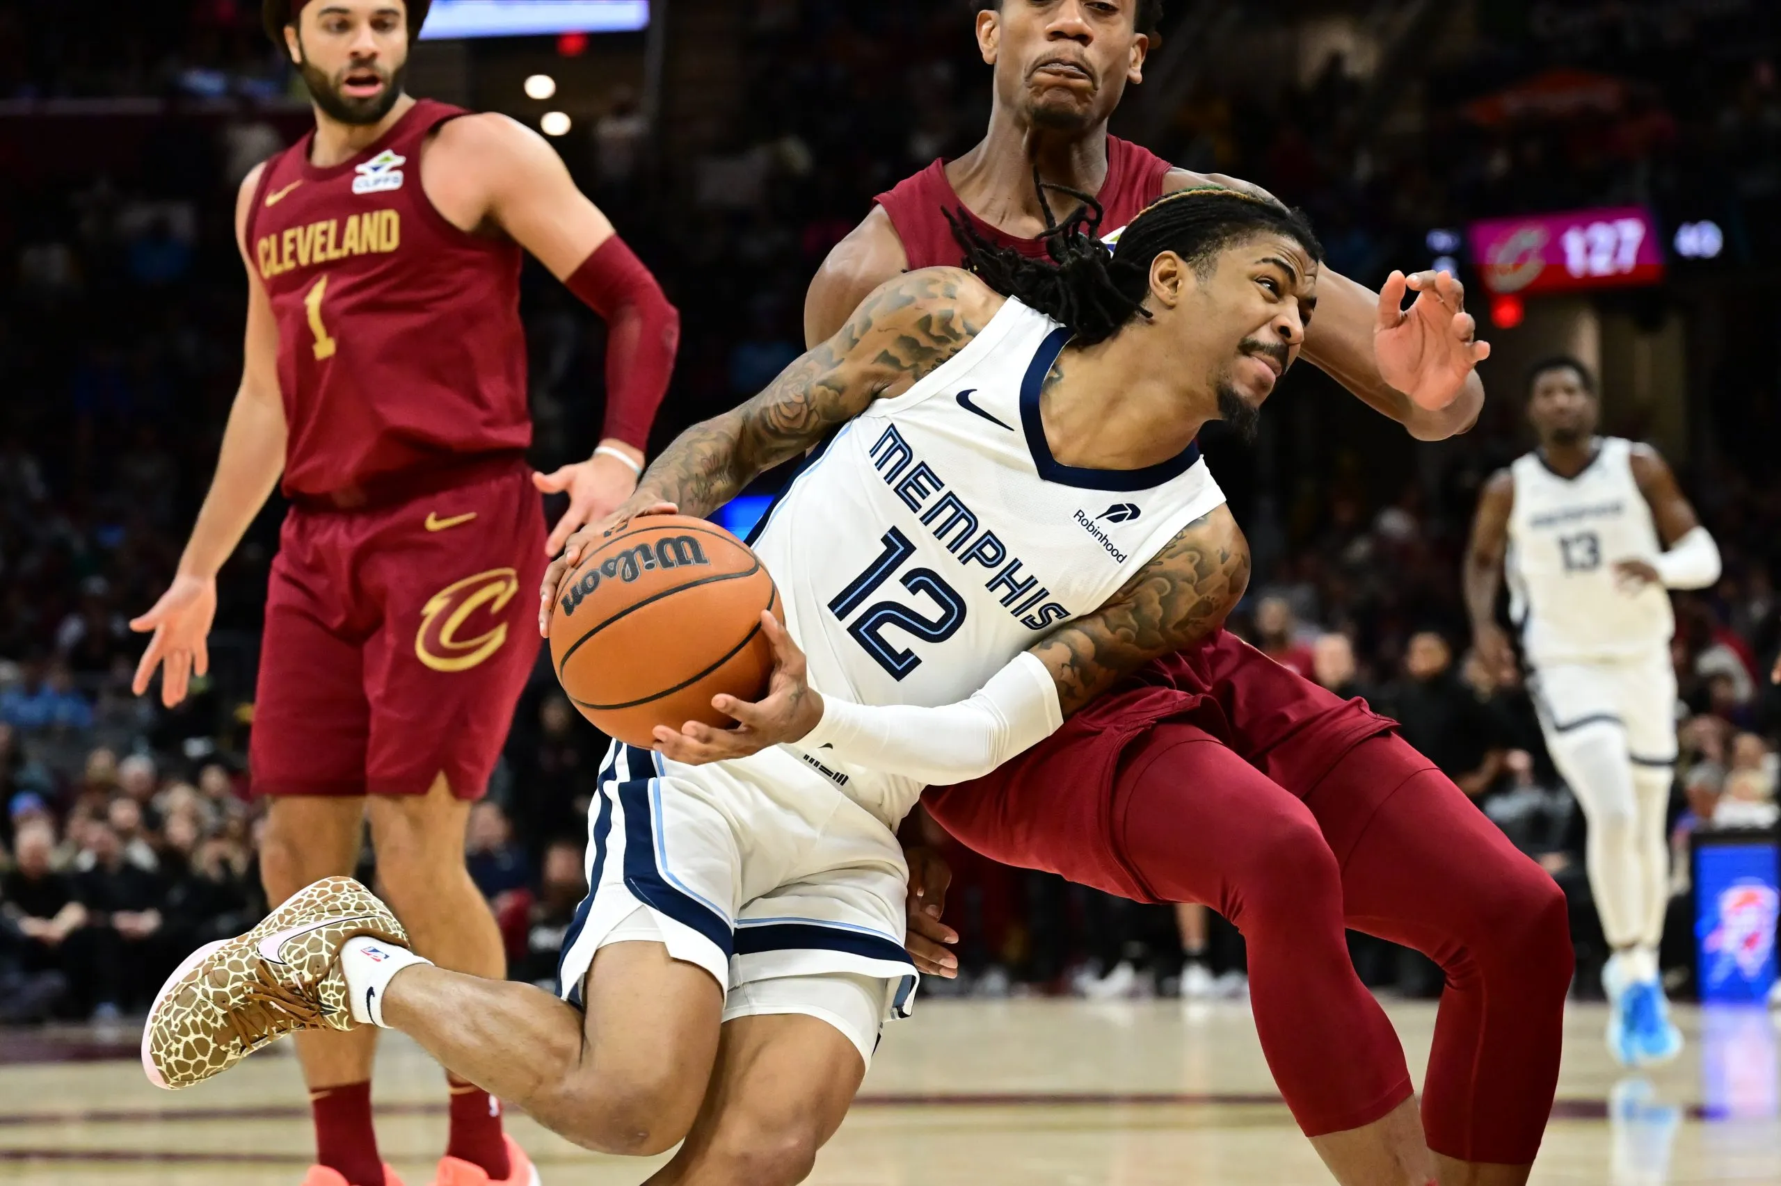
[(650, 746), (657, 725), (736, 721), (711, 707), (759, 700), (773, 673), (760, 611), (785, 620), (748, 545), (684, 515), (630, 520), (582, 556), (550, 613), (550, 664), (582, 716)]

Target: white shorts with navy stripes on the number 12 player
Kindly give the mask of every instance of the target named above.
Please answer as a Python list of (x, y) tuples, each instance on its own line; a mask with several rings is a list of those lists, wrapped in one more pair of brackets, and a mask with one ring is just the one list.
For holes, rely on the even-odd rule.
[(914, 1003), (903, 848), (785, 750), (682, 766), (614, 741), (586, 874), (557, 965), (557, 995), (577, 1008), (595, 953), (639, 938), (711, 972), (725, 1020), (807, 1013), (867, 1065), (883, 1020)]

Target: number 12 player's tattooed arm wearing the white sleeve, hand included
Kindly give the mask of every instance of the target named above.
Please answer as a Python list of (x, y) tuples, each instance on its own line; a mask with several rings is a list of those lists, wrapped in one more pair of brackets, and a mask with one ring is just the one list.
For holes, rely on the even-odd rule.
[(679, 762), (746, 757), (796, 741), (835, 759), (944, 785), (978, 778), (1038, 744), (1115, 682), (1151, 659), (1206, 638), (1248, 584), (1248, 543), (1218, 509), (1188, 524), (1099, 611), (1015, 655), (969, 700), (939, 707), (858, 705), (805, 682), (803, 654), (771, 614), (762, 632), (777, 666), (759, 703), (718, 696), (737, 728), (659, 727), (655, 748)]

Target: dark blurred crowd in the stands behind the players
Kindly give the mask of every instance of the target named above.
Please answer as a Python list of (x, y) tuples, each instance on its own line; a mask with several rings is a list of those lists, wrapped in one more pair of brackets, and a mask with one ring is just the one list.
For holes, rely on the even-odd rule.
[[(276, 103), (290, 80), (258, 32), (258, 5), (191, 0), (183, 23), (125, 5), (78, 28), (50, 20), (52, 7), (0, 11), (0, 109), (18, 109), (0, 110), (0, 173), (16, 182), (0, 191), (0, 1020), (141, 1011), (180, 954), (264, 910), (244, 753), (278, 500), (223, 572), (212, 673), (185, 705), (132, 696), (141, 639), (126, 621), (173, 572), (239, 378), (233, 189), (308, 121)], [(1656, 0), (1503, 7), (1562, 12), (1548, 14), (1548, 32), (1505, 32), (1492, 5), (1476, 5), (1464, 57), (1405, 85), (1330, 59), (1304, 80), (1282, 68), (1266, 87), (1200, 87), (1168, 142), (1152, 146), (1307, 207), (1334, 267), (1370, 283), (1427, 265), (1432, 226), (1644, 201), (1712, 208), (1731, 244), (1724, 283), (1767, 294), (1753, 278), (1781, 267), (1776, 12), (1761, 0), (1696, 5), (1696, 16)], [(1667, 18), (1646, 23), (1647, 9)], [(623, 89), (606, 118), (561, 142), (682, 308), (657, 445), (798, 354), (803, 288), (828, 248), (874, 192), (969, 148), (988, 110), (956, 0), (762, 0), (752, 11), (748, 102), (725, 151), (661, 160)], [(1724, 36), (1728, 21), (1736, 37)], [(1614, 85), (1565, 91), (1551, 77), (1560, 66)], [(23, 167), (30, 141), (7, 121), (48, 119), (25, 109), (57, 98), (169, 105), (128, 125), (132, 151)], [(84, 128), (69, 123), (68, 137)], [(534, 458), (550, 468), (597, 435), (602, 338), (536, 269), (524, 305)], [(1704, 390), (1688, 395), (1696, 445), (1671, 458), (1726, 556), (1715, 589), (1678, 597), (1679, 853), (1692, 828), (1774, 819), (1781, 317), (1769, 301), (1747, 305), (1742, 324), (1719, 331)], [(1469, 436), (1425, 454), (1437, 463), (1371, 427), (1364, 440), (1386, 443), (1348, 443), (1343, 431), (1371, 413), (1322, 376), (1295, 374), (1270, 406), (1259, 454), (1273, 461), (1213, 440), (1257, 556), (1232, 625), (1400, 719), (1565, 887), (1580, 953), (1599, 956), (1582, 819), (1521, 677), (1468, 650), (1459, 554), (1475, 491), (1526, 447), (1519, 376), (1492, 374), (1491, 392)], [(1338, 404), (1352, 417), (1330, 418)], [(554, 972), (582, 894), (602, 750), (541, 668), (470, 828), (470, 867), (515, 976)], [(958, 873), (949, 915), (965, 937), (955, 990), (1241, 992), (1240, 940), (1216, 921), (946, 851)], [(1676, 890), (1687, 890), (1687, 860)], [(1667, 963), (1683, 967), (1688, 933), (1672, 931)], [(1184, 947), (1200, 956), (1186, 969)], [(1355, 960), (1370, 983), (1439, 988), (1432, 965), (1382, 944), (1357, 938)]]

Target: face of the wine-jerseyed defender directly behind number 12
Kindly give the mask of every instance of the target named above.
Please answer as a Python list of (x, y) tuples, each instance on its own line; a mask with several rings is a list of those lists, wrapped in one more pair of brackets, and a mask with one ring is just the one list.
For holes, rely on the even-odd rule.
[(1088, 130), (1138, 82), (1151, 39), (1138, 0), (1001, 0), (978, 12), (978, 48), (996, 98), (1042, 128)]

